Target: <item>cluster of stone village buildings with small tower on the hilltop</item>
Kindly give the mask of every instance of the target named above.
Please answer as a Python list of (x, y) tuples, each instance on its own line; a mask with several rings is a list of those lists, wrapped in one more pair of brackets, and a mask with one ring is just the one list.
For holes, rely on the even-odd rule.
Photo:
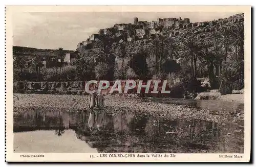
[[(200, 24), (200, 23), (199, 23)], [(162, 28), (166, 30), (178, 30), (180, 28), (192, 27), (193, 23), (189, 22), (189, 18), (184, 20), (177, 18), (158, 18), (157, 21), (139, 21), (137, 17), (132, 23), (118, 23), (112, 28), (100, 29), (98, 34), (92, 34), (86, 41), (82, 41), (77, 45), (77, 49), (81, 46), (86, 46), (93, 43), (100, 36), (113, 36), (114, 41), (133, 41), (147, 39), (150, 35), (160, 33)], [(178, 35), (178, 34), (176, 34)]]

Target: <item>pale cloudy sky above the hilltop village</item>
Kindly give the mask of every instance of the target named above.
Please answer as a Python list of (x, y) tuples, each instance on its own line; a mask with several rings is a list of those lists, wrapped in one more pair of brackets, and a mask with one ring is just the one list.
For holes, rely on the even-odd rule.
[(232, 16), (234, 12), (16, 12), (12, 15), (13, 45), (37, 49), (76, 50), (99, 29), (115, 23), (156, 21), (157, 18), (181, 17), (190, 22), (210, 21)]

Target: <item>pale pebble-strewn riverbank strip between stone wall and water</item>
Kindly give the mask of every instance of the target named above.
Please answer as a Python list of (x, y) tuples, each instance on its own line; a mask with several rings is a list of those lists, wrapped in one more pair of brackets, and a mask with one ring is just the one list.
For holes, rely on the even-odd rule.
[[(165, 104), (158, 102), (142, 102), (140, 98), (106, 95), (104, 110), (118, 114), (133, 112), (152, 115), (155, 117), (168, 117), (171, 119), (184, 118), (186, 120), (199, 119), (214, 122), (238, 123), (244, 120), (244, 114), (238, 111), (230, 112), (220, 108), (218, 112), (208, 109), (198, 109), (185, 105)], [(88, 96), (60, 95), (60, 94), (14, 94), (14, 114), (30, 110), (88, 110)]]

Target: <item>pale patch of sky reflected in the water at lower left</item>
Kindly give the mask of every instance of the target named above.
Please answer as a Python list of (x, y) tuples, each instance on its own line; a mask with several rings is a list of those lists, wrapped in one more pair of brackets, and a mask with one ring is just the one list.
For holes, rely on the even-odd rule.
[(35, 130), (14, 133), (15, 153), (97, 153), (96, 148), (76, 137), (75, 131), (66, 130), (61, 137), (55, 130)]

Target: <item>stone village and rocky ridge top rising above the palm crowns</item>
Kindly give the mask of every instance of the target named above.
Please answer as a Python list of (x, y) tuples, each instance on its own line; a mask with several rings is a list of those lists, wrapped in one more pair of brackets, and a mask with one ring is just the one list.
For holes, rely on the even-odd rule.
[[(194, 35), (199, 40), (211, 39), (210, 32), (216, 31), (222, 26), (231, 26), (237, 22), (243, 22), (244, 15), (236, 14), (229, 18), (218, 20), (190, 22), (189, 18), (158, 18), (157, 21), (139, 21), (134, 18), (134, 23), (117, 23), (112, 28), (100, 29), (98, 34), (92, 34), (87, 40), (79, 42), (77, 51), (83, 53), (84, 50), (95, 48), (94, 43), (102, 36), (108, 36), (113, 43), (135, 42), (153, 39), (156, 34), (162, 33), (166, 36), (178, 40), (185, 40), (186, 36)], [(136, 42), (139, 41), (139, 42)], [(142, 44), (147, 42), (142, 42)]]

